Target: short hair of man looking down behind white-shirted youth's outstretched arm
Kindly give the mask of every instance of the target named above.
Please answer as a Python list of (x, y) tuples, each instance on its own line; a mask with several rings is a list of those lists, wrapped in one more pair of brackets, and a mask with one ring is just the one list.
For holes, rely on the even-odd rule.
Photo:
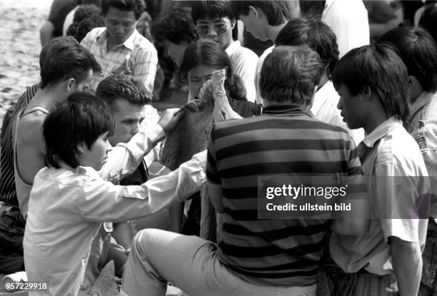
[(96, 96), (103, 98), (110, 106), (118, 98), (141, 106), (151, 103), (152, 98), (152, 94), (146, 90), (141, 81), (121, 74), (104, 78), (97, 86)]

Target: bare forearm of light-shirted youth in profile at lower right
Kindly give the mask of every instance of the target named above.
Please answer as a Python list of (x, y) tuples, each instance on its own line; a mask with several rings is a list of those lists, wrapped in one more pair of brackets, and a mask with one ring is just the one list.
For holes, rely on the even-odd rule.
[(422, 275), (421, 247), (392, 236), (390, 254), (399, 295), (417, 295)]

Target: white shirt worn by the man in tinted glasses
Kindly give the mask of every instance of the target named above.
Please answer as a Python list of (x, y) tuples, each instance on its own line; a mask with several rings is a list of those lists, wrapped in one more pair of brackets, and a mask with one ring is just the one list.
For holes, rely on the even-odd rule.
[(231, 58), (233, 73), (243, 80), (247, 101), (254, 102), (256, 100), (255, 73), (258, 56), (250, 49), (241, 46), (240, 41), (233, 41), (225, 51)]

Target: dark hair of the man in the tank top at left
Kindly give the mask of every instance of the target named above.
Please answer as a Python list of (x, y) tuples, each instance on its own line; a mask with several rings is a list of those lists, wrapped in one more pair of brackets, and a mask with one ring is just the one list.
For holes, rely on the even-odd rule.
[[(51, 83), (74, 78), (76, 82), (84, 80), (89, 70), (100, 72), (96, 58), (79, 43), (57, 41), (45, 51), (41, 65), (41, 88)], [(49, 58), (48, 58), (49, 57)]]

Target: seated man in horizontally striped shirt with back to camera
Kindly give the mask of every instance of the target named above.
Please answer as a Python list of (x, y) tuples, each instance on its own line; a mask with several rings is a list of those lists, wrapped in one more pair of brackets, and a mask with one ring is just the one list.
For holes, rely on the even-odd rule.
[[(206, 175), (211, 202), (223, 214), (218, 245), (164, 230), (134, 240), (121, 295), (165, 295), (172, 282), (189, 295), (316, 295), (328, 220), (258, 220), (258, 176), (343, 176), (361, 185), (351, 136), (312, 118), (308, 109), (323, 72), (308, 46), (279, 46), (261, 71), (265, 114), (212, 128)], [(290, 81), (293, 81), (292, 83)], [(359, 191), (354, 205), (366, 211)], [(353, 194), (352, 194), (353, 195)], [(367, 208), (368, 209), (368, 208)], [(359, 235), (366, 220), (333, 220)]]

